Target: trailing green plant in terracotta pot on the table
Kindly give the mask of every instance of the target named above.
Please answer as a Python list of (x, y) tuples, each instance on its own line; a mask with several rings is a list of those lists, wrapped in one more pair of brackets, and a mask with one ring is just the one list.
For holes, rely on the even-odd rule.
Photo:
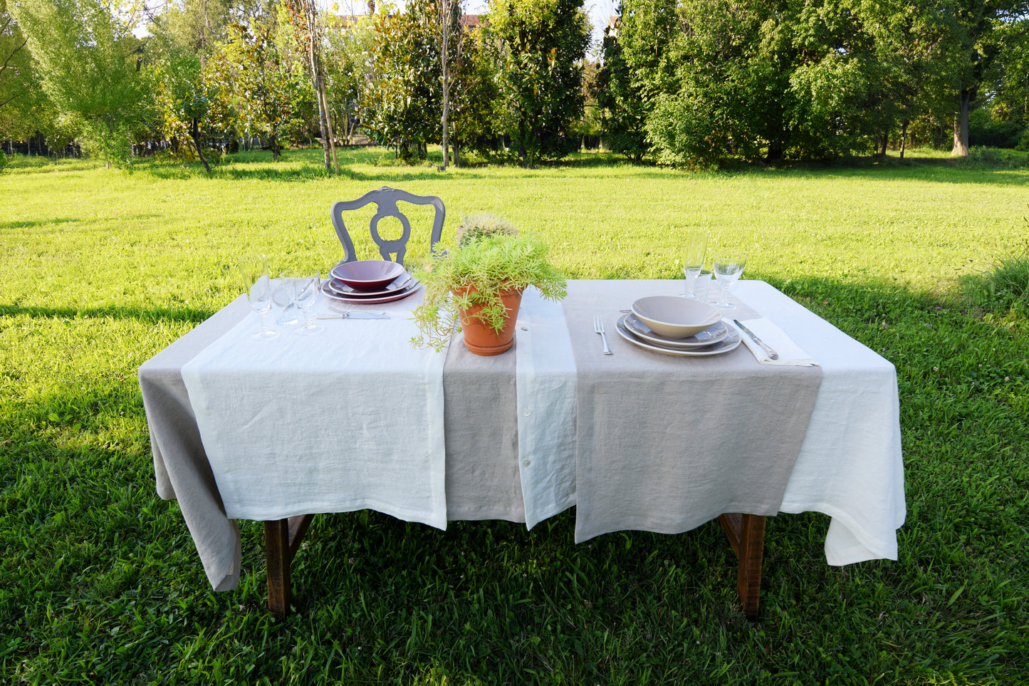
[(466, 217), (454, 243), (436, 252), (422, 275), (425, 296), (414, 311), (422, 335), (419, 347), (442, 350), (451, 336), (464, 332), (464, 345), (481, 355), (508, 350), (522, 293), (535, 286), (548, 300), (565, 297), (565, 277), (547, 261), (545, 243), (518, 233), (492, 215)]

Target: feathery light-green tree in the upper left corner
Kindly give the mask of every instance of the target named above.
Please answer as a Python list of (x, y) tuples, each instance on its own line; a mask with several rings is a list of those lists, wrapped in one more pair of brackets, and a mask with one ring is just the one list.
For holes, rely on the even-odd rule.
[(147, 114), (131, 26), (103, 0), (21, 0), (14, 16), (61, 115), (108, 166), (127, 162), (132, 130)]

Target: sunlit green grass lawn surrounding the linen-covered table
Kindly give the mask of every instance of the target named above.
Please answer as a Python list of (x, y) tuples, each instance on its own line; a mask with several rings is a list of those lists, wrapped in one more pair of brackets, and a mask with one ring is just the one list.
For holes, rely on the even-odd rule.
[[(230, 157), (211, 177), (25, 158), (0, 172), (2, 683), (1026, 680), (1029, 296), (983, 280), (1029, 254), (1025, 155), (689, 174), (341, 152), (340, 176), (310, 150)], [(574, 512), (446, 533), (359, 512), (316, 518), (287, 619), (264, 606), (256, 522), (241, 522), (240, 588), (211, 591), (154, 492), (137, 369), (240, 293), (239, 255), (327, 270), (329, 205), (382, 185), (442, 198), (447, 233), (505, 215), (571, 278), (676, 278), (687, 228), (749, 251), (745, 276), (897, 368), (900, 559), (828, 567), (826, 517), (776, 517), (751, 625), (716, 522), (576, 546)]]

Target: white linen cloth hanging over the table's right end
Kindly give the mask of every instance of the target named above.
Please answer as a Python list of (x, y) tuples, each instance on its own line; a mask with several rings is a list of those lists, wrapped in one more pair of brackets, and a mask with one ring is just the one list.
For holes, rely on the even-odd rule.
[(780, 512), (832, 518), (829, 564), (896, 559), (896, 529), (907, 516), (896, 369), (764, 281), (740, 281), (735, 293), (822, 368)]

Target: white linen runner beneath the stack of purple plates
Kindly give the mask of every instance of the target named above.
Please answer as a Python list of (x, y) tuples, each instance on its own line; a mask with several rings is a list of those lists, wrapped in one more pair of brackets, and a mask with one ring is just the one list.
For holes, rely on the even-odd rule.
[(273, 340), (250, 337), (251, 313), (183, 366), (228, 518), (371, 508), (446, 529), (446, 355), (409, 343), (420, 300)]

